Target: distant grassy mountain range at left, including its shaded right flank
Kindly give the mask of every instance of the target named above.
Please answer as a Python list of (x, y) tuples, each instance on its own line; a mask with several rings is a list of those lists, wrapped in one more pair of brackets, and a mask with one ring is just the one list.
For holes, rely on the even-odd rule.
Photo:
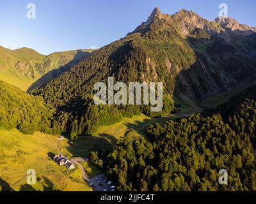
[(27, 91), (41, 77), (41, 80), (33, 84), (34, 88), (85, 59), (92, 51), (73, 50), (42, 55), (30, 48), (10, 50), (0, 47), (0, 80)]

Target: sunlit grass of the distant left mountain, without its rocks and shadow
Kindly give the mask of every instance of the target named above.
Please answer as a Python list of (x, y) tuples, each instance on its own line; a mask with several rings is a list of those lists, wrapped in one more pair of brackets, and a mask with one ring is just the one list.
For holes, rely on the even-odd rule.
[[(81, 51), (92, 52), (93, 50), (84, 49)], [(76, 55), (77, 50), (54, 52), (50, 55), (42, 55), (30, 48), (10, 50), (8, 48), (0, 47), (0, 80), (3, 80), (8, 84), (15, 85), (23, 91), (27, 91), (30, 85), (33, 84), (33, 82), (36, 82), (36, 80), (42, 77), (42, 75), (37, 73), (35, 78), (27, 77), (15, 69), (15, 64), (17, 64), (17, 62), (22, 62), (24, 64), (29, 64), (29, 62), (31, 62), (35, 65), (36, 62), (44, 64), (45, 61), (51, 59), (52, 66), (50, 70), (53, 70), (72, 61)]]

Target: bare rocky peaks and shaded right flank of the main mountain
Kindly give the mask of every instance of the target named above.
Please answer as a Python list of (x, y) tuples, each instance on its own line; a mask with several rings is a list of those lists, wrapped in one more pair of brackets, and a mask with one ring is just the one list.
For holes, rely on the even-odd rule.
[(166, 58), (167, 73), (170, 67), (173, 68), (171, 78), (175, 80), (175, 94), (203, 99), (230, 90), (255, 75), (254, 27), (241, 25), (232, 18), (218, 18), (211, 22), (187, 10), (180, 10), (174, 15), (154, 10), (152, 15), (150, 25), (146, 22), (140, 26), (147, 24), (148, 32), (175, 29), (193, 48), (191, 55), (195, 58), (189, 68), (177, 66), (177, 62), (172, 61), (172, 55)]

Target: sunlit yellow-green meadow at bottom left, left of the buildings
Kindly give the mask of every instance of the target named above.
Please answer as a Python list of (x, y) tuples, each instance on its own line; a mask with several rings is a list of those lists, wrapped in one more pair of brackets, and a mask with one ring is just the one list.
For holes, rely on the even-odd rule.
[[(15, 129), (0, 131), (0, 179), (8, 182), (15, 191), (42, 191), (51, 186), (61, 191), (91, 191), (81, 179), (79, 168), (68, 171), (49, 157), (51, 154), (58, 154), (57, 142), (56, 136), (43, 133), (22, 135)], [(66, 141), (61, 142), (68, 146)], [(63, 148), (63, 154), (71, 155), (66, 148)], [(40, 180), (33, 188), (26, 186), (28, 169), (34, 169)]]

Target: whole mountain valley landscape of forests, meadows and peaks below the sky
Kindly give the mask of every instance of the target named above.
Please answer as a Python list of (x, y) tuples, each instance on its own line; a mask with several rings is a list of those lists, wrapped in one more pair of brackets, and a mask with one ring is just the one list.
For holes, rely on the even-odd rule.
[[(93, 85), (109, 77), (163, 82), (163, 110), (95, 105)], [(32, 166), (47, 173), (31, 191), (90, 191), (83, 170), (116, 191), (256, 191), (255, 90), (256, 28), (184, 9), (155, 8), (97, 50), (0, 47), (0, 190), (29, 191)], [(83, 167), (67, 171), (56, 154)], [(216, 182), (223, 168), (228, 186)]]

